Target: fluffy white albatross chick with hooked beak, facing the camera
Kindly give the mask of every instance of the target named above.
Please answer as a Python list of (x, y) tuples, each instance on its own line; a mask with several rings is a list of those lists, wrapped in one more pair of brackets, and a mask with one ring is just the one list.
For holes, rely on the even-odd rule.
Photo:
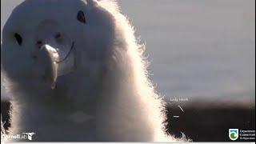
[(34, 132), (34, 141), (186, 141), (165, 132), (164, 102), (143, 50), (114, 0), (26, 0), (2, 33), (9, 134)]

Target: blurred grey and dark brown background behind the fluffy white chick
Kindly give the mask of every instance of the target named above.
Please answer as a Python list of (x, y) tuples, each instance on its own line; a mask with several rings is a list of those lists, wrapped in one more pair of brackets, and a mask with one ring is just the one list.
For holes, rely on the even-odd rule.
[[(1, 33), (20, 2), (1, 0)], [(170, 134), (222, 142), (230, 128), (255, 130), (254, 0), (118, 2), (146, 43)]]

